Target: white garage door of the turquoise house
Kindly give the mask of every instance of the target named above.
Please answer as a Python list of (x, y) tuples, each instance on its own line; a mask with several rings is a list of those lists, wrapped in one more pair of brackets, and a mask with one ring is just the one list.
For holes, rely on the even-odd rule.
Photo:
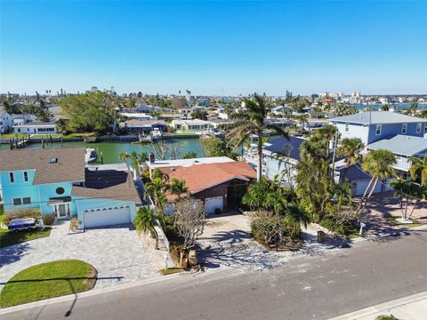
[(83, 212), (83, 217), (85, 228), (105, 227), (132, 222), (131, 207), (128, 205), (87, 210)]

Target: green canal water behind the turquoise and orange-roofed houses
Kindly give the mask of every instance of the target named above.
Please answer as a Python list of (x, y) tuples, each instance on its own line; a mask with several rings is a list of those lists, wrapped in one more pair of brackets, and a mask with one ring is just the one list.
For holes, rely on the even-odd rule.
[[(167, 143), (172, 144), (181, 144), (182, 145), (182, 151), (178, 157), (184, 156), (186, 152), (189, 151), (195, 151), (197, 153), (197, 156), (205, 156), (205, 153), (203, 152), (203, 149), (200, 145), (200, 142), (198, 139), (180, 139), (180, 140), (166, 140)], [(136, 151), (137, 153), (146, 152), (150, 153), (152, 150), (149, 147), (148, 144), (132, 144), (131, 142), (99, 142), (99, 143), (88, 143), (88, 142), (64, 142), (63, 146), (60, 143), (44, 143), (44, 148), (77, 148), (77, 147), (84, 147), (84, 148), (94, 148), (97, 153), (98, 157), (104, 162), (104, 164), (117, 164), (120, 163), (120, 159), (118, 158), (118, 155), (122, 152), (127, 152), (130, 154), (133, 151)], [(0, 150), (7, 150), (9, 149), (8, 144), (1, 144)], [(28, 144), (25, 148), (42, 148), (41, 143), (32, 143)]]

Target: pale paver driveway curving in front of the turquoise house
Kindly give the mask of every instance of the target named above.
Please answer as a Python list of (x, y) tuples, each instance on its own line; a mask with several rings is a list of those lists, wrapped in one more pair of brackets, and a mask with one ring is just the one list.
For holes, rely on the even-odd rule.
[(0, 288), (20, 270), (38, 263), (78, 259), (98, 270), (95, 288), (159, 276), (151, 268), (135, 230), (100, 228), (68, 235), (69, 221), (53, 227), (51, 236), (0, 250)]

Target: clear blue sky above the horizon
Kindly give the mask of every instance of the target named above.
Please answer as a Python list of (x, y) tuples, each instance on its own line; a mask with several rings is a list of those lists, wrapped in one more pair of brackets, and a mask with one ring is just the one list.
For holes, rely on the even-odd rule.
[(0, 5), (0, 92), (427, 92), (427, 2)]

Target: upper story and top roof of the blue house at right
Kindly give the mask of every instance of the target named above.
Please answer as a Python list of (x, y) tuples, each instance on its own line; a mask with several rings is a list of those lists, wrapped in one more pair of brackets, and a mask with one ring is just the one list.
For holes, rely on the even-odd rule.
[(350, 116), (338, 116), (332, 123), (341, 138), (360, 138), (365, 146), (391, 135), (423, 138), (427, 120), (388, 111), (367, 111)]

